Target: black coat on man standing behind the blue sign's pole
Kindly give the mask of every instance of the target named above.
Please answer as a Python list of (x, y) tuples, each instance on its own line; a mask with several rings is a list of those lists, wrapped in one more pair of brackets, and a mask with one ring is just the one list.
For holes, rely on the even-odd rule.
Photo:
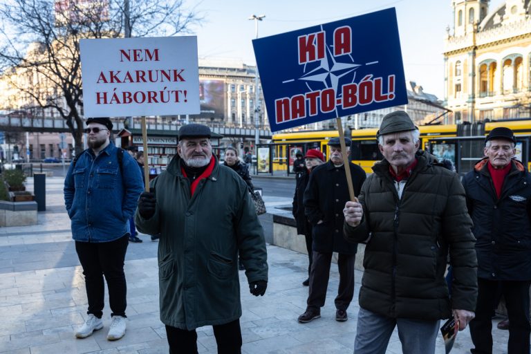
[[(354, 194), (360, 194), (365, 171), (350, 162)], [(346, 184), (345, 167), (335, 167), (328, 160), (313, 169), (304, 192), (304, 211), (313, 227), (313, 250), (322, 253), (339, 252), (355, 254), (357, 244), (343, 238), (345, 203), (350, 200)], [(319, 223), (319, 221), (323, 221)]]

